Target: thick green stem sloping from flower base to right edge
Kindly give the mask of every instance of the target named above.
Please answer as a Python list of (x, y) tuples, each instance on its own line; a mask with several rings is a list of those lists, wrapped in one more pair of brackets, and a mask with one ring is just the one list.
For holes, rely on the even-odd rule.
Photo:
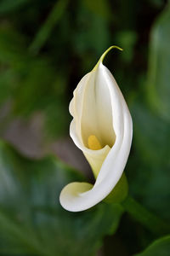
[(143, 224), (145, 228), (157, 235), (166, 235), (170, 233), (170, 225), (156, 217), (153, 213), (149, 212), (139, 202), (135, 201), (132, 197), (127, 196), (125, 201), (122, 202), (122, 207), (134, 219)]

